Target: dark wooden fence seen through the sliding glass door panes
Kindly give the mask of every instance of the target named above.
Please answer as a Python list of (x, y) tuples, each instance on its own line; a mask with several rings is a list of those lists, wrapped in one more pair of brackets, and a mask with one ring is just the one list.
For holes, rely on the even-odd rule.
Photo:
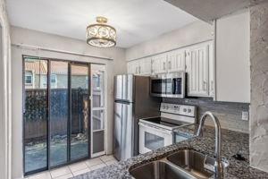
[[(71, 90), (71, 132), (88, 130), (88, 90)], [(66, 135), (69, 116), (67, 89), (50, 91), (51, 135)], [(47, 134), (47, 91), (25, 90), (24, 140), (46, 139)]]

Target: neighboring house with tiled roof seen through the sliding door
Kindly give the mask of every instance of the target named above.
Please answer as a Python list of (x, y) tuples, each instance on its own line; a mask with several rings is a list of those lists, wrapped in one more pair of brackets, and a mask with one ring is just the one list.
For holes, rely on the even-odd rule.
[[(45, 60), (25, 61), (25, 89), (46, 89), (47, 64)], [(68, 88), (68, 68), (62, 63), (54, 62), (51, 65), (50, 75), (51, 89)], [(71, 88), (88, 88), (88, 71), (84, 68), (71, 68)]]

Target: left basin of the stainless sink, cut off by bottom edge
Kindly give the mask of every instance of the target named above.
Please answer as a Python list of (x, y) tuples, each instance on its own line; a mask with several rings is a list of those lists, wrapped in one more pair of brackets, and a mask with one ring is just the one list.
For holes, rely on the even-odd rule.
[(172, 164), (157, 160), (130, 170), (130, 175), (136, 179), (194, 179), (187, 172)]

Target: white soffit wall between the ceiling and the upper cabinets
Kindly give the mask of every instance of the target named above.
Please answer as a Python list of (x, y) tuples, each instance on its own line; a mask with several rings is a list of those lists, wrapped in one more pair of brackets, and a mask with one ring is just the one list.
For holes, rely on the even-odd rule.
[(126, 50), (126, 59), (133, 60), (155, 55), (179, 47), (213, 39), (214, 27), (204, 21), (195, 21), (155, 39), (143, 42)]

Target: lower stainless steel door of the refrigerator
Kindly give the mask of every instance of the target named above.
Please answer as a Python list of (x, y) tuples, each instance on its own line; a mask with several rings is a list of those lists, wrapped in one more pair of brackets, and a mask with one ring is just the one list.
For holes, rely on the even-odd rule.
[(114, 103), (113, 152), (118, 160), (133, 156), (133, 118), (131, 103)]

